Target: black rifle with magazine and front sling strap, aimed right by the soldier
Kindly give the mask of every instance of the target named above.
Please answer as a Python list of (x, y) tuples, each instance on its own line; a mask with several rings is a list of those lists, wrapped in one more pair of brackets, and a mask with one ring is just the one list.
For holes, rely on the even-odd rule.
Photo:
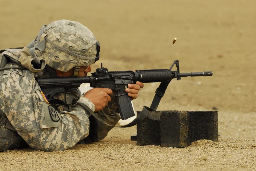
[[(173, 71), (173, 66), (177, 70)], [(113, 90), (113, 95), (117, 97), (118, 108), (122, 120), (135, 116), (131, 98), (125, 92), (128, 84), (134, 84), (136, 81), (142, 83), (161, 82), (156, 89), (155, 98), (150, 106), (156, 110), (163, 97), (169, 82), (173, 78), (180, 80), (181, 77), (194, 76), (212, 76), (211, 71), (180, 73), (179, 61), (175, 60), (170, 69), (136, 70), (134, 71), (108, 71), (102, 67), (96, 69), (87, 77), (58, 77), (58, 78), (36, 78), (38, 85), (45, 96), (51, 98), (56, 93), (63, 93), (72, 88), (78, 88), (82, 83), (90, 83), (91, 87), (109, 88)]]

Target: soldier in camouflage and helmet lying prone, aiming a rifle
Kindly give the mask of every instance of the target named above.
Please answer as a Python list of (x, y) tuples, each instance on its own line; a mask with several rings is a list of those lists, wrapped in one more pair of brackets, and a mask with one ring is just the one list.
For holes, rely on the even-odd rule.
[[(35, 81), (35, 77), (85, 77), (98, 59), (99, 43), (92, 32), (69, 20), (44, 25), (22, 50), (5, 49), (0, 64), (5, 67), (0, 71), (0, 151), (24, 144), (47, 152), (61, 151), (105, 138), (113, 127), (70, 103), (81, 102), (115, 125), (120, 115), (111, 89), (93, 88), (84, 96), (74, 89), (46, 99)], [(143, 83), (128, 87), (128, 95), (136, 99)], [(54, 104), (53, 99), (65, 105)]]

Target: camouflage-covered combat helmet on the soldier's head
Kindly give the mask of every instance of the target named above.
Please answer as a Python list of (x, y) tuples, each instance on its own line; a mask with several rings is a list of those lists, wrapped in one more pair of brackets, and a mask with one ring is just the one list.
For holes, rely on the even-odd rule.
[(80, 66), (89, 66), (99, 60), (100, 44), (92, 32), (81, 23), (69, 20), (44, 25), (28, 47), (31, 55), (63, 72), (75, 67), (78, 74)]

